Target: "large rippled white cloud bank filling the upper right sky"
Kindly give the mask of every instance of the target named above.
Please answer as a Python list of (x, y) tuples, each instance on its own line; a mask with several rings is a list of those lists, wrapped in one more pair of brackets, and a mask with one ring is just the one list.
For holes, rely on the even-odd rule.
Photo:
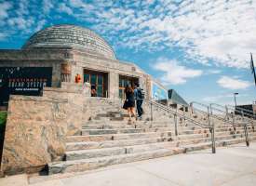
[(93, 28), (115, 46), (149, 51), (178, 46), (184, 58), (236, 68), (248, 68), (249, 52), (256, 53), (256, 1), (107, 2), (69, 1), (79, 10), (75, 18), (95, 16)]

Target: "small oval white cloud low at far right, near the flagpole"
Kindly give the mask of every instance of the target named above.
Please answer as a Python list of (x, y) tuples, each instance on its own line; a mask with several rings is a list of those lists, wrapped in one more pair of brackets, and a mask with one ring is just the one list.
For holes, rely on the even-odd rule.
[(217, 83), (227, 89), (245, 89), (250, 86), (248, 81), (237, 79), (236, 77), (222, 76)]

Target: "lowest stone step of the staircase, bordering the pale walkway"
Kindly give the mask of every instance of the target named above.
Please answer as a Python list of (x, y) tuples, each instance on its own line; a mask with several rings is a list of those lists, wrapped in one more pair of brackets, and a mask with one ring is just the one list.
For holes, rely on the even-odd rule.
[[(256, 140), (254, 138), (253, 140)], [(221, 140), (216, 141), (216, 146), (226, 146), (231, 144), (236, 144), (239, 142), (244, 142), (243, 139), (235, 139), (235, 140)], [(139, 153), (125, 153), (118, 155), (110, 155), (103, 157), (94, 157), (88, 159), (79, 159), (72, 161), (62, 161), (62, 162), (54, 162), (48, 164), (48, 174), (56, 174), (56, 173), (64, 173), (64, 172), (78, 172), (78, 171), (86, 171), (91, 169), (97, 169), (102, 166), (111, 166), (115, 164), (124, 164), (128, 162), (135, 162), (141, 160), (147, 160), (157, 157), (168, 156), (176, 153), (186, 153), (191, 151), (197, 151), (202, 149), (209, 149), (211, 147), (211, 142), (198, 143), (186, 145), (182, 148), (165, 148), (165, 149), (157, 149), (155, 151), (142, 151)]]

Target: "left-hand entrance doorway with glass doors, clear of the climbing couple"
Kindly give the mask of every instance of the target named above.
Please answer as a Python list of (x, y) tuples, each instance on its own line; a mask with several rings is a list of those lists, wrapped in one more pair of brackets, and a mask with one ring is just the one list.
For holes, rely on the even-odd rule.
[(90, 83), (91, 89), (96, 90), (96, 97), (108, 97), (108, 73), (102, 73), (91, 70), (84, 70), (84, 83)]

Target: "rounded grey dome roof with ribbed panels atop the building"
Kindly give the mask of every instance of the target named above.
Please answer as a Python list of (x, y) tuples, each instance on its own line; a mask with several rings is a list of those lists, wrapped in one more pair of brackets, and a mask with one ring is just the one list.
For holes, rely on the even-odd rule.
[(34, 33), (22, 49), (38, 47), (81, 49), (115, 60), (114, 50), (100, 35), (75, 25), (55, 25)]

